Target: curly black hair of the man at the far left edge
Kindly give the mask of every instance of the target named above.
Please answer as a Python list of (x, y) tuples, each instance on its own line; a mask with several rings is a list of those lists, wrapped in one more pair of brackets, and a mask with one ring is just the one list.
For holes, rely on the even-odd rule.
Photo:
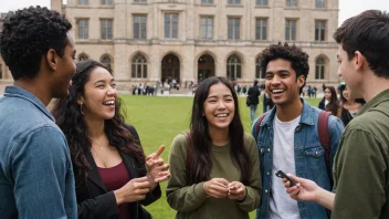
[(0, 35), (0, 51), (13, 80), (34, 79), (42, 56), (50, 49), (62, 58), (72, 24), (59, 12), (30, 7), (7, 17)]

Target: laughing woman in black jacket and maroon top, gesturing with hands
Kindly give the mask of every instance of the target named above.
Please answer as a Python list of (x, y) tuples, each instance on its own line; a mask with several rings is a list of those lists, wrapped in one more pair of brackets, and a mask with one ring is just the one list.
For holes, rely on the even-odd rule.
[(78, 218), (151, 218), (140, 205), (157, 200), (158, 182), (169, 177), (159, 158), (164, 147), (145, 157), (136, 129), (124, 122), (108, 69), (78, 62), (69, 96), (52, 113), (69, 143)]

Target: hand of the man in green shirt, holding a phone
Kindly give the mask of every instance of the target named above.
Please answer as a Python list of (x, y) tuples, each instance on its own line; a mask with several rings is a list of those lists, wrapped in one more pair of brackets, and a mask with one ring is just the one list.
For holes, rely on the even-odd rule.
[(296, 200), (317, 201), (317, 192), (320, 187), (318, 187), (315, 181), (299, 178), (292, 174), (288, 174), (287, 176), (296, 182), (296, 186), (291, 187), (290, 181), (285, 178), (282, 179), (286, 188), (286, 192), (291, 196), (291, 198)]

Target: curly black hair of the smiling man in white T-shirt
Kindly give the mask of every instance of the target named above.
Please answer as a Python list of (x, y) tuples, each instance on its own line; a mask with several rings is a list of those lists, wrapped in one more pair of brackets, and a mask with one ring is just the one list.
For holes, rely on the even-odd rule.
[[(309, 73), (309, 64), (308, 59), (309, 55), (304, 52), (301, 48), (296, 45), (288, 45), (285, 43), (282, 45), (281, 42), (278, 44), (271, 44), (269, 48), (264, 49), (261, 54), (261, 72), (262, 74), (266, 73), (269, 62), (277, 59), (287, 60), (292, 64), (292, 69), (296, 72), (296, 80), (299, 75), (304, 75), (305, 81)], [(302, 87), (299, 87), (299, 93), (303, 92), (303, 87), (305, 86), (305, 81)]]

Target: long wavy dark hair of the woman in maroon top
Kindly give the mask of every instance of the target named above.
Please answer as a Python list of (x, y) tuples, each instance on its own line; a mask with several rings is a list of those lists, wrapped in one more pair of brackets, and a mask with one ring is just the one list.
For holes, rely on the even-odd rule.
[[(69, 96), (57, 100), (54, 103), (52, 114), (56, 124), (66, 136), (71, 157), (77, 177), (86, 177), (90, 165), (86, 155), (90, 153), (92, 142), (88, 136), (88, 127), (81, 113), (77, 100), (85, 93), (85, 84), (90, 80), (91, 73), (96, 67), (109, 71), (104, 64), (87, 60), (76, 64), (76, 73), (72, 79), (72, 86)], [(122, 107), (120, 98), (116, 98), (115, 116), (104, 122), (104, 132), (107, 135), (109, 145), (120, 152), (132, 154), (140, 164), (145, 163), (145, 154), (140, 144), (128, 131), (125, 118), (125, 108)]]

